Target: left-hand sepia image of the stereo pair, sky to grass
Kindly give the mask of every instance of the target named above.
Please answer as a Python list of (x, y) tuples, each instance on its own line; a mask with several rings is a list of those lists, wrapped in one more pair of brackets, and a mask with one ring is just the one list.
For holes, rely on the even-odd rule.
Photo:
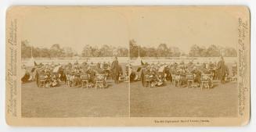
[(129, 116), (125, 19), (97, 8), (25, 12), (21, 116)]

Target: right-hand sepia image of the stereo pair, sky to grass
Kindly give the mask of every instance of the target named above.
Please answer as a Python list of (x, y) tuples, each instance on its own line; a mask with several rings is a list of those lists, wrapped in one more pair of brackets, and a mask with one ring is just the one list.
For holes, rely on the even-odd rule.
[(130, 116), (238, 116), (238, 36), (232, 10), (135, 10)]

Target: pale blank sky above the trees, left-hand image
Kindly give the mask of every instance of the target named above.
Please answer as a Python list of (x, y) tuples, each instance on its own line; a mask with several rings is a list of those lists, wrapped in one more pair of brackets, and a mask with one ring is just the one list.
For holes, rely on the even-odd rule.
[(128, 29), (122, 16), (98, 9), (33, 9), (23, 19), (23, 39), (38, 47), (53, 44), (74, 48), (85, 45), (128, 48)]

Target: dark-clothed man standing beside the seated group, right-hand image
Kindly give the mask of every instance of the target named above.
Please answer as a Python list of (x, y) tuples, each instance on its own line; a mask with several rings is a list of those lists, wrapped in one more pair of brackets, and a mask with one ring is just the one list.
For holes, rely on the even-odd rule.
[(222, 56), (220, 56), (220, 60), (218, 61), (217, 65), (217, 76), (218, 80), (221, 80), (221, 83), (225, 83), (225, 61)]

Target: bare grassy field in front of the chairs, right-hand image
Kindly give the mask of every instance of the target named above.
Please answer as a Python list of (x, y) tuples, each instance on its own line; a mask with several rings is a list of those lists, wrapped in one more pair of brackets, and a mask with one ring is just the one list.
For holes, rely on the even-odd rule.
[(218, 84), (200, 91), (199, 87), (142, 87), (131, 84), (131, 116), (143, 117), (222, 117), (237, 115), (237, 84)]

